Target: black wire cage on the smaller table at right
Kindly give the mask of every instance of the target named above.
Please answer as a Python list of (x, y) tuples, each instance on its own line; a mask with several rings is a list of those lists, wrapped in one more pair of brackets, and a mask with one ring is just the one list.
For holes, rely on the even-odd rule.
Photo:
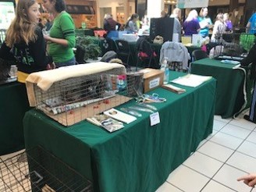
[(217, 59), (242, 60), (244, 54), (249, 52), (254, 45), (255, 37), (253, 34), (216, 34), (214, 48), (210, 55)]

